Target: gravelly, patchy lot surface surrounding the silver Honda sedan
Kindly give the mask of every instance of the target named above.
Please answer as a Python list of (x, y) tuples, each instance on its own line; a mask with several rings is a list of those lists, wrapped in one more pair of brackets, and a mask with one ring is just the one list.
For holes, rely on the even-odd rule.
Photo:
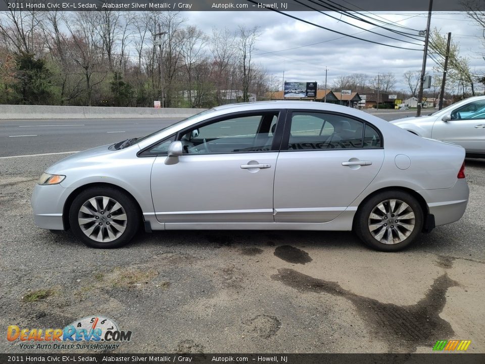
[[(485, 160), (467, 160), (458, 222), (400, 253), (351, 233), (140, 233), (89, 249), (33, 224), (39, 174), (63, 156), (0, 164), (1, 352), (8, 325), (63, 328), (88, 315), (132, 330), (114, 352), (485, 352)], [(42, 293), (42, 294), (39, 294)]]

